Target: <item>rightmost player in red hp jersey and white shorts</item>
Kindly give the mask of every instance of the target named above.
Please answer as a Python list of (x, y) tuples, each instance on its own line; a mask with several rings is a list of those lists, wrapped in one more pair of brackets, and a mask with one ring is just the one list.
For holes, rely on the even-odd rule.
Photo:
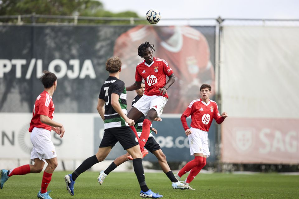
[[(191, 170), (187, 179), (183, 181), (183, 183), (188, 186), (200, 170), (206, 165), (206, 158), (210, 156), (208, 131), (213, 118), (218, 124), (221, 124), (224, 121), (224, 118), (227, 117), (225, 112), (220, 115), (216, 102), (210, 100), (210, 85), (203, 84), (200, 87), (200, 94), (202, 97), (200, 99), (193, 100), (181, 116), (181, 121), (190, 143), (190, 155), (194, 155), (195, 158), (188, 162), (178, 172), (178, 174), (175, 174), (174, 176), (180, 180), (182, 175)], [(186, 121), (186, 118), (189, 117), (189, 115), (191, 115), (192, 120), (190, 129)]]

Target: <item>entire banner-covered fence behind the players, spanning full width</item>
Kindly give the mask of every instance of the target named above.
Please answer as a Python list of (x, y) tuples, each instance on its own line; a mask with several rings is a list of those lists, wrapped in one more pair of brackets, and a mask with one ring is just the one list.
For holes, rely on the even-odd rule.
[[(62, 140), (52, 134), (59, 169), (72, 170), (93, 155), (103, 135), (96, 105), (107, 75), (105, 61), (120, 56), (121, 79), (130, 85), (140, 60), (137, 47), (148, 40), (155, 45), (154, 56), (167, 60), (177, 76), (168, 90), (163, 121), (153, 123), (158, 130), (155, 139), (173, 169), (192, 159), (179, 117), (199, 98), (199, 86), (209, 83), (212, 99), (229, 114), (221, 126), (212, 124), (208, 134), (211, 169), (298, 170), (299, 20), (163, 19), (168, 25), (161, 21), (151, 26), (139, 18), (33, 14), (0, 16), (0, 21), (7, 18), (15, 18), (15, 24), (0, 24), (0, 168), (29, 161), (27, 129), (42, 90), (37, 77), (43, 70), (55, 72), (59, 83), (55, 118), (66, 129)], [(46, 23), (38, 23), (41, 18)], [(115, 24), (92, 24), (107, 20)], [(128, 92), (128, 101), (134, 95)], [(70, 151), (72, 143), (76, 147)], [(120, 154), (118, 144), (107, 164)], [(159, 169), (154, 155), (145, 160), (148, 168)], [(130, 167), (127, 162), (119, 169)]]

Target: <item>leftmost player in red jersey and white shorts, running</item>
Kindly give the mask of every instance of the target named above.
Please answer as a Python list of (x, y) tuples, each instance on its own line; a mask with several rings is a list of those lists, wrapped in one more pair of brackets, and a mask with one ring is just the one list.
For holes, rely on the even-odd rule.
[(26, 164), (15, 169), (1, 170), (1, 189), (4, 183), (12, 175), (24, 175), (28, 173), (40, 173), (44, 168), (45, 162), (48, 163), (41, 183), (40, 191), (37, 194), (38, 198), (51, 199), (47, 187), (51, 181), (52, 174), (57, 167), (57, 155), (55, 146), (51, 141), (51, 130), (54, 130), (60, 138), (64, 135), (64, 127), (61, 123), (55, 122), (54, 103), (52, 96), (57, 86), (57, 77), (54, 73), (44, 71), (44, 75), (40, 77), (40, 81), (45, 87), (45, 90), (36, 98), (32, 119), (30, 122), (29, 132), (31, 132), (31, 160), (34, 165)]

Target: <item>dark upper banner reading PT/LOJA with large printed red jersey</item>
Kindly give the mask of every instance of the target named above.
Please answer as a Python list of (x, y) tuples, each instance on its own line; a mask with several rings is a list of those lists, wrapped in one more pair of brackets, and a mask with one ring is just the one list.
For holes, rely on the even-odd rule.
[[(49, 70), (58, 77), (59, 113), (97, 113), (107, 58), (120, 56), (120, 78), (129, 86), (141, 60), (137, 48), (146, 41), (155, 45), (154, 56), (165, 59), (177, 77), (168, 89), (164, 113), (182, 113), (200, 97), (202, 83), (214, 85), (214, 26), (1, 25), (0, 46), (5, 48), (0, 48), (0, 112), (30, 113), (43, 90), (38, 77)], [(134, 95), (128, 92), (128, 99)]]

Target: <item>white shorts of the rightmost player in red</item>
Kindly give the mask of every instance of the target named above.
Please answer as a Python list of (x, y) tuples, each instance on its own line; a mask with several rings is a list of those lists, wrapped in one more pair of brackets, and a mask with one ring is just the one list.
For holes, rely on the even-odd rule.
[(190, 128), (192, 133), (188, 136), (190, 145), (190, 155), (195, 153), (202, 153), (208, 158), (210, 156), (208, 144), (208, 132), (202, 131), (198, 128)]

